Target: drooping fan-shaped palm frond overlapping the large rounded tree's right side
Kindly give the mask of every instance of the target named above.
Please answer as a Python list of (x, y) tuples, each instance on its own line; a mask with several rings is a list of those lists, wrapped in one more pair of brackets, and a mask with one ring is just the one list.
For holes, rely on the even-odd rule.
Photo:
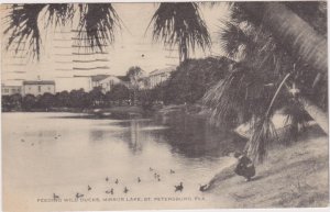
[(265, 112), (270, 101), (263, 79), (246, 65), (237, 64), (231, 72), (211, 87), (202, 101), (210, 109), (210, 121), (216, 125), (232, 123), (238, 114), (244, 120)]

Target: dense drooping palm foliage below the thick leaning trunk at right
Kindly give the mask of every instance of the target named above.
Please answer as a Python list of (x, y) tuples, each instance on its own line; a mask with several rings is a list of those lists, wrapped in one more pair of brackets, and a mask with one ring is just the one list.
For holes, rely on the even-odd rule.
[[(316, 7), (319, 2), (312, 4)], [(295, 4), (288, 4), (293, 5)], [(231, 19), (223, 22), (220, 33), (221, 47), (229, 57), (239, 60), (239, 65), (233, 66), (227, 78), (207, 92), (205, 102), (212, 109), (212, 121), (217, 124), (228, 122), (232, 113), (241, 116), (243, 122), (250, 121), (253, 135), (246, 150), (254, 159), (263, 160), (267, 144), (276, 138), (276, 131), (271, 121), (273, 114), (278, 110), (285, 112), (292, 123), (289, 136), (297, 136), (297, 125), (304, 124), (308, 119), (301, 110), (298, 96), (304, 93), (318, 99), (316, 102), (326, 109), (327, 81), (318, 81), (316, 93), (315, 81), (318, 72), (310, 71), (312, 66), (293, 55), (293, 51), (274, 35), (270, 25), (261, 22), (262, 16), (250, 14), (245, 11), (246, 7), (251, 4), (233, 3)], [(304, 8), (293, 10), (295, 9), (304, 16)], [(307, 13), (307, 16), (306, 20), (315, 20), (310, 18), (310, 13)], [(322, 23), (326, 23), (326, 20)], [(315, 24), (315, 27), (318, 26)], [(323, 26), (320, 27), (320, 31), (323, 31)], [(282, 83), (285, 85), (284, 89), (279, 87)], [(309, 93), (314, 93), (312, 97)]]

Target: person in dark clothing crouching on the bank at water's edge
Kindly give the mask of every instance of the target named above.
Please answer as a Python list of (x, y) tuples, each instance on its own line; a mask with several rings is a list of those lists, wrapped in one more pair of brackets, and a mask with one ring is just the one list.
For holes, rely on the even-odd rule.
[(246, 181), (250, 181), (255, 175), (253, 161), (245, 154), (241, 153), (234, 153), (234, 157), (238, 158), (238, 165), (234, 172), (244, 177)]

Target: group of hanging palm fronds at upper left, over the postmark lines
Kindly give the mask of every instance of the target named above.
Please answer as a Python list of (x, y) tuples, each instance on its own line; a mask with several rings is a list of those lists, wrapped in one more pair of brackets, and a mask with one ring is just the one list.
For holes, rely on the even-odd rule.
[[(85, 44), (81, 46), (102, 51), (107, 41), (110, 44), (113, 43), (116, 26), (120, 27), (120, 19), (111, 3), (81, 3), (79, 9), (78, 36)], [(15, 44), (16, 54), (24, 49), (40, 59), (38, 16), (43, 10), (48, 14), (46, 27), (50, 27), (51, 24), (55, 24), (55, 26), (67, 24), (77, 11), (72, 3), (12, 4), (11, 11), (6, 16), (8, 27), (4, 30), (4, 34), (10, 35), (7, 49)]]

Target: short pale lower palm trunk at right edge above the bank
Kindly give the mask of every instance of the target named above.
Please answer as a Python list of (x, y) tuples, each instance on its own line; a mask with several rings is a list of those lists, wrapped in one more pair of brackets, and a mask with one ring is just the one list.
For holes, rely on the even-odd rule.
[(304, 97), (299, 97), (306, 112), (318, 123), (318, 125), (329, 135), (328, 113), (315, 105), (311, 101)]

